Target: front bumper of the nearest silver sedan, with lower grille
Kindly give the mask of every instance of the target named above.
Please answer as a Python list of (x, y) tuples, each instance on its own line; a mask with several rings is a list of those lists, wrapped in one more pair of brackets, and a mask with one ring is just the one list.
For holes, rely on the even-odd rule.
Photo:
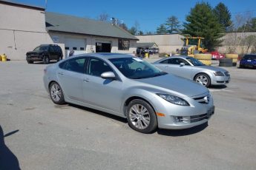
[(209, 103), (202, 102), (207, 95), (209, 94), (184, 98), (190, 106), (175, 105), (156, 97), (155, 111), (165, 115), (157, 115), (158, 127), (160, 129), (187, 129), (206, 123), (214, 115), (213, 99), (210, 97)]

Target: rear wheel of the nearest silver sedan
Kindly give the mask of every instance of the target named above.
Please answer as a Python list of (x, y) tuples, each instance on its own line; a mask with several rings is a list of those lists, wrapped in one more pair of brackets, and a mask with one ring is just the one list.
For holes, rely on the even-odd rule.
[(50, 99), (53, 101), (53, 103), (56, 104), (64, 104), (65, 99), (62, 92), (62, 88), (57, 84), (56, 82), (53, 82), (50, 84)]

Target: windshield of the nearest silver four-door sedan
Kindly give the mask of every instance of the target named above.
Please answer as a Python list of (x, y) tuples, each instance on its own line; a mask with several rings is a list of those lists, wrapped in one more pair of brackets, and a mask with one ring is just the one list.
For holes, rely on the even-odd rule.
[(111, 61), (125, 77), (131, 79), (152, 78), (167, 74), (140, 58), (111, 58), (109, 61)]

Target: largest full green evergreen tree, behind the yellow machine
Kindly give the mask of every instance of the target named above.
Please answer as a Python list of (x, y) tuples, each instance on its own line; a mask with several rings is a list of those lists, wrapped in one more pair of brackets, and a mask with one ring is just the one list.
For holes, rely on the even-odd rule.
[(197, 3), (191, 8), (189, 16), (184, 23), (184, 34), (205, 38), (203, 44), (211, 51), (220, 46), (220, 38), (223, 36), (223, 27), (217, 21), (211, 6), (206, 2)]

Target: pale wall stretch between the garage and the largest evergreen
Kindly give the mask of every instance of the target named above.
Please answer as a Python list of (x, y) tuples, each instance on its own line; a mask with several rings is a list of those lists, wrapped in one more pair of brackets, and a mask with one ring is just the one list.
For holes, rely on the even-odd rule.
[(170, 35), (136, 35), (140, 40), (137, 43), (154, 42), (159, 47), (160, 53), (175, 52), (176, 49), (183, 47), (184, 41), (183, 35), (170, 34)]

